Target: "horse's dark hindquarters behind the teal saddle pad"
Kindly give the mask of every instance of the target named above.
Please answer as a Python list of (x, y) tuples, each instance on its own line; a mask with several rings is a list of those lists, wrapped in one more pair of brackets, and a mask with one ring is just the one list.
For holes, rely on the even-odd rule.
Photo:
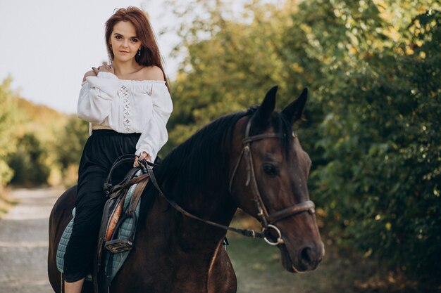
[(61, 273), (56, 268), (56, 250), (64, 229), (72, 219), (72, 209), (75, 207), (77, 186), (64, 192), (54, 204), (49, 216), (49, 252), (47, 256), (47, 272), (54, 292), (61, 292)]

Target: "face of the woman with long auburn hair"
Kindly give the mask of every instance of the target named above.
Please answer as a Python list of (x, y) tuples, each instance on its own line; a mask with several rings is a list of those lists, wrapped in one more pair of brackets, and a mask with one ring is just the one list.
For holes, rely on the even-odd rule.
[(135, 59), (141, 41), (137, 38), (135, 26), (130, 21), (117, 22), (111, 34), (113, 61), (127, 62)]

